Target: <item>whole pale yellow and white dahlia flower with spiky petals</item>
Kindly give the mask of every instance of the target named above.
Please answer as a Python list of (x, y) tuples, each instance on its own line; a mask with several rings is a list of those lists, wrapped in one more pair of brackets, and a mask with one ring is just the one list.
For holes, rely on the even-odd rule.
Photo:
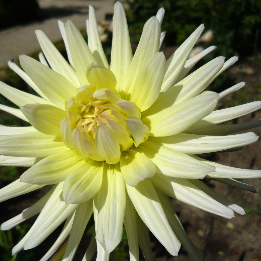
[(260, 121), (220, 123), (255, 111), (261, 103), (214, 111), (219, 99), (244, 86), (239, 83), (219, 94), (204, 91), (237, 57), (226, 62), (217, 57), (186, 76), (215, 46), (187, 60), (204, 29), (200, 25), (166, 62), (159, 52), (165, 35), (160, 29), (163, 15), (161, 8), (145, 23), (133, 56), (126, 15), (117, 2), (110, 64), (91, 6), (88, 45), (71, 21), (58, 22), (69, 63), (39, 30), (41, 62), (21, 55), (23, 70), (9, 62), (39, 96), (0, 84), (0, 93), (20, 109), (0, 108), (32, 125), (0, 128), (1, 165), (30, 167), (0, 190), (0, 199), (55, 184), (39, 201), (2, 224), (1, 229), (7, 230), (39, 214), (13, 255), (38, 246), (65, 221), (41, 261), (48, 260), (68, 237), (62, 260), (72, 260), (93, 214), (95, 232), (82, 260), (90, 260), (96, 247), (97, 260), (108, 260), (122, 238), (123, 226), (130, 260), (139, 259), (139, 246), (145, 259), (152, 260), (149, 230), (171, 255), (177, 255), (183, 244), (194, 260), (200, 260), (169, 197), (226, 218), (234, 217), (234, 212), (244, 214), (201, 180), (245, 188), (235, 178), (260, 177), (261, 172), (194, 155), (257, 141), (252, 132), (227, 134), (259, 126)]

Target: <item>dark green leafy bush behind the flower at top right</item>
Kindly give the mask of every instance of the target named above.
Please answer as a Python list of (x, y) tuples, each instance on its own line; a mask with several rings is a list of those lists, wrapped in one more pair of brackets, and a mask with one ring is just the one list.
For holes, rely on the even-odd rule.
[(260, 32), (260, 0), (124, 0), (129, 5), (127, 19), (132, 40), (138, 41), (144, 21), (164, 7), (164, 42), (180, 45), (201, 23), (212, 30), (212, 44), (220, 55), (253, 54)]

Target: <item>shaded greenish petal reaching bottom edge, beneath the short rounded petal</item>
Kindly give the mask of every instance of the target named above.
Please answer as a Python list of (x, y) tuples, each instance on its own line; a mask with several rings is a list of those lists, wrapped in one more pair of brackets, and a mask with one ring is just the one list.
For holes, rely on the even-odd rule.
[(93, 212), (92, 200), (81, 203), (76, 211), (73, 220), (73, 226), (69, 236), (69, 241), (66, 246), (65, 253), (63, 255), (62, 261), (72, 261), (79, 246), (80, 240), (86, 228), (86, 225)]

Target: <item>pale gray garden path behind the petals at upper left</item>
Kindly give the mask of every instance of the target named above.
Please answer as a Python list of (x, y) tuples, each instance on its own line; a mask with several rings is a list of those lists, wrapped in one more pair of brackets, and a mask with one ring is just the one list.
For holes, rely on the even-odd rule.
[[(34, 22), (28, 25), (15, 26), (0, 31), (0, 67), (7, 65), (8, 60), (16, 59), (20, 54), (30, 54), (40, 49), (34, 31), (40, 29), (51, 39), (61, 39), (57, 20), (73, 21), (79, 29), (86, 28), (88, 6), (96, 10), (97, 21), (105, 19), (105, 14), (113, 13), (114, 0), (38, 0), (40, 8), (45, 12), (57, 12), (59, 15)], [(61, 13), (64, 13), (63, 16)], [(66, 15), (67, 13), (67, 15)], [(71, 13), (71, 14), (68, 14)]]

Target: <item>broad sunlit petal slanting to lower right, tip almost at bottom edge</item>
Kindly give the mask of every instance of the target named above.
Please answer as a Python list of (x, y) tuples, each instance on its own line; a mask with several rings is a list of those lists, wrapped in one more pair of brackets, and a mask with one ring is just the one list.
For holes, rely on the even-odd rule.
[[(177, 256), (180, 242), (170, 227), (151, 181), (149, 179), (141, 181), (137, 187), (126, 184), (126, 189), (136, 211), (146, 226), (171, 255)], [(147, 211), (144, 211), (144, 209)]]

